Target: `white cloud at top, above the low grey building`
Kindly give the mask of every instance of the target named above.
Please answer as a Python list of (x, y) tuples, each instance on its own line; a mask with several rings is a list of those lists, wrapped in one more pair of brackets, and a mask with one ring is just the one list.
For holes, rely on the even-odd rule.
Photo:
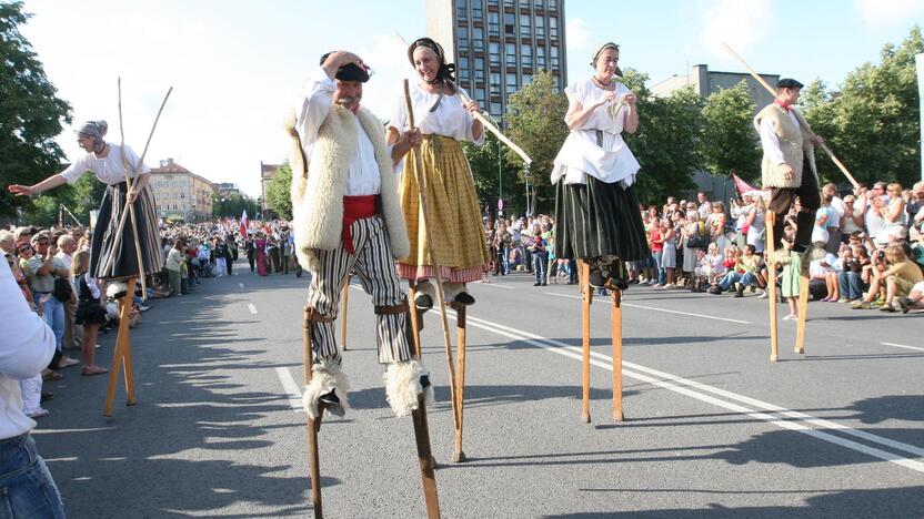
[(700, 41), (715, 54), (725, 55), (722, 42), (746, 52), (770, 37), (773, 12), (770, 0), (720, 0), (704, 8)]

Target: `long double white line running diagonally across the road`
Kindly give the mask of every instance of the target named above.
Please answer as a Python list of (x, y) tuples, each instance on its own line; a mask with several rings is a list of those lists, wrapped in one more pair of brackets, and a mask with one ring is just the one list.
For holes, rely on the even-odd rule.
[[(454, 313), (451, 313), (454, 317)], [(545, 349), (548, 352), (552, 352), (565, 357), (570, 357), (573, 359), (581, 360), (582, 359), (582, 349), (576, 346), (570, 346), (560, 340), (551, 339), (548, 337), (543, 337), (541, 335), (532, 334), (530, 332), (524, 332), (521, 329), (512, 328), (510, 326), (501, 325), (499, 323), (492, 323), (490, 320), (480, 319), (476, 317), (466, 316), (468, 323), (472, 326), (478, 328), (485, 329), (488, 332), (492, 332), (494, 334), (512, 338), (514, 340), (521, 340), (532, 346)], [(597, 367), (602, 367), (606, 370), (612, 372), (612, 357), (607, 355), (603, 355), (596, 352), (591, 352), (591, 356), (595, 357), (591, 359), (591, 364)], [(599, 360), (603, 359), (603, 360)], [(605, 360), (605, 362), (604, 362)], [(632, 372), (625, 369), (626, 367), (636, 369), (637, 372), (649, 373), (651, 375), (656, 375), (667, 380), (661, 380), (659, 378), (654, 378), (647, 375), (643, 375), (641, 373)], [(652, 369), (645, 366), (641, 366), (639, 364), (627, 363), (623, 360), (623, 375), (630, 378), (635, 378), (636, 380), (642, 380), (664, 389), (679, 393), (681, 395), (686, 395), (689, 397), (695, 398), (701, 401), (705, 401), (707, 404), (715, 405), (723, 409), (727, 409), (734, 413), (740, 413), (752, 418), (756, 418), (770, 424), (775, 425), (776, 427), (783, 429), (790, 429), (797, 432), (802, 432), (807, 436), (812, 436), (814, 438), (821, 439), (823, 441), (827, 441), (830, 444), (838, 445), (841, 447), (845, 447), (851, 450), (855, 450), (857, 452), (863, 452), (874, 458), (882, 459), (884, 461), (890, 461), (896, 465), (900, 465), (905, 468), (910, 468), (912, 470), (923, 472), (924, 474), (924, 462), (904, 458), (902, 456), (895, 455), (893, 452), (888, 452), (882, 449), (877, 449), (875, 447), (870, 447), (867, 445), (863, 445), (846, 438), (842, 438), (840, 436), (832, 435), (830, 432), (825, 432), (821, 429), (830, 429), (830, 430), (837, 430), (838, 432), (850, 435), (856, 438), (865, 439), (866, 441), (871, 441), (874, 444), (878, 444), (882, 446), (891, 447), (896, 450), (902, 450), (908, 454), (913, 454), (915, 456), (924, 456), (924, 449), (920, 447), (915, 447), (913, 445), (903, 444), (901, 441), (895, 441), (888, 438), (884, 438), (877, 435), (873, 435), (871, 432), (866, 432), (863, 430), (856, 430), (851, 427), (847, 427), (843, 424), (837, 424), (834, 421), (816, 418), (811, 415), (806, 415), (800, 411), (793, 411), (791, 409), (786, 409), (784, 407), (775, 406), (773, 404), (767, 404), (761, 400), (756, 400), (754, 398), (746, 397), (744, 395), (737, 395), (732, 391), (726, 391), (724, 389), (719, 389), (712, 386), (707, 386), (705, 384), (701, 384), (697, 381), (693, 381), (683, 377), (679, 377), (675, 375), (671, 375), (665, 372), (660, 372), (657, 369)], [(670, 381), (669, 381), (670, 380)], [(676, 384), (674, 384), (676, 383)], [(694, 391), (689, 386), (701, 391), (712, 393), (714, 395), (722, 396), (724, 398), (731, 400), (737, 400), (742, 404), (747, 404), (750, 407), (745, 407), (743, 405), (735, 404), (733, 401), (729, 401), (726, 399), (716, 398), (714, 396), (706, 395), (704, 393)], [(755, 410), (754, 408), (763, 409), (769, 413), (761, 413)], [(791, 421), (784, 418), (792, 418), (799, 421)], [(808, 427), (807, 425), (815, 426), (817, 428)]]

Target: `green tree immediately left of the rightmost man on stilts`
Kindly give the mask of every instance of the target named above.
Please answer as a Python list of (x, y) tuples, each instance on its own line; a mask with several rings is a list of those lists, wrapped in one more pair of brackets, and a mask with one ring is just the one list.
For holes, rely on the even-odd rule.
[(744, 80), (706, 99), (701, 144), (705, 165), (713, 174), (734, 171), (749, 181), (760, 176), (762, 152), (752, 123), (754, 108)]

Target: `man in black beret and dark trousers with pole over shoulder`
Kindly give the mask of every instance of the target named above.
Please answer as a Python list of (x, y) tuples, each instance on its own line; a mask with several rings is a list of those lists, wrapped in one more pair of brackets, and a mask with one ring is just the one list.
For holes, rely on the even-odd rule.
[[(811, 128), (796, 118), (793, 106), (799, 101), (802, 83), (784, 78), (776, 82), (776, 99), (754, 118), (754, 128), (761, 135), (763, 162), (761, 164), (764, 187), (771, 189), (767, 207), (775, 213), (773, 251), (775, 263), (785, 264), (789, 252), (782, 246), (785, 217), (796, 197), (802, 208), (796, 214), (795, 240), (792, 252), (805, 254), (812, 245), (815, 213), (821, 207), (818, 175), (815, 169), (815, 145), (824, 140), (812, 136)], [(808, 260), (803, 258), (803, 267)]]

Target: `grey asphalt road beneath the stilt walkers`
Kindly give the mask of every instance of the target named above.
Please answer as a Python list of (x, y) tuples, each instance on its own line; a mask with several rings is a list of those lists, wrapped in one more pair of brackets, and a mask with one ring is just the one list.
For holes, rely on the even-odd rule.
[[(52, 413), (34, 432), (70, 517), (312, 513), (298, 403), (307, 278), (235, 271), (144, 314), (132, 334), (139, 406), (120, 393), (102, 417), (106, 378), (77, 368), (47, 384)], [(449, 461), (445, 354), (426, 317), (444, 517), (924, 516), (924, 315), (812, 303), (805, 355), (781, 320), (770, 363), (765, 301), (634, 286), (626, 421), (610, 417), (610, 305), (597, 298), (582, 424), (576, 288), (492, 281), (471, 286), (465, 464)], [(348, 318), (352, 409), (321, 429), (325, 516), (423, 517), (412, 424), (385, 403), (360, 289)], [(101, 337), (101, 358), (113, 343)]]

